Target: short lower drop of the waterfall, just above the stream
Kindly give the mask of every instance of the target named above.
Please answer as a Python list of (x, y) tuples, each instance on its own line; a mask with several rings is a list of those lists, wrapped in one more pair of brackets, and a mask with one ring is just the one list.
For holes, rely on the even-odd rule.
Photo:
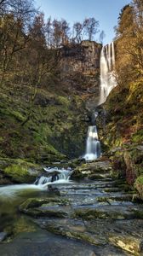
[(100, 157), (100, 141), (96, 125), (89, 126), (88, 137), (86, 143), (86, 153), (83, 156), (85, 160), (96, 160)]

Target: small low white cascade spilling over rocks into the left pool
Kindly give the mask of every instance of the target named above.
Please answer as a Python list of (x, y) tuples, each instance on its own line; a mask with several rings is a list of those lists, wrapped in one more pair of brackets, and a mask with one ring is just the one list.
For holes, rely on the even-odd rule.
[(44, 167), (43, 169), (45, 172), (47, 172), (47, 175), (37, 177), (37, 180), (35, 181), (36, 185), (48, 185), (49, 183), (67, 183), (69, 182), (69, 179), (72, 175), (71, 167), (68, 167), (67, 169), (59, 169), (58, 167)]

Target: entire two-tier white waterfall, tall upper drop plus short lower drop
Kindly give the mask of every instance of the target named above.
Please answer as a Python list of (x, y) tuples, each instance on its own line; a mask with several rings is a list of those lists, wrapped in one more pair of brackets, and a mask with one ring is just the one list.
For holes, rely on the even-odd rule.
[[(100, 53), (100, 99), (97, 104), (103, 104), (106, 102), (107, 96), (111, 90), (117, 85), (114, 77), (115, 68), (115, 50), (114, 43), (106, 44), (103, 46)], [(98, 113), (95, 112), (92, 116), (92, 122), (97, 117)], [(100, 157), (100, 141), (98, 139), (96, 126), (89, 126), (87, 143), (86, 143), (86, 154), (83, 158), (85, 160), (96, 160)]]

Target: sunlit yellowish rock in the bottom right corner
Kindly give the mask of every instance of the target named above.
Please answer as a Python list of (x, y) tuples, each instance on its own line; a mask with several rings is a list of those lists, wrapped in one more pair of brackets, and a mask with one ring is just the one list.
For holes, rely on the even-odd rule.
[(115, 246), (123, 248), (123, 250), (134, 253), (134, 255), (142, 255), (140, 253), (143, 253), (143, 239), (134, 236), (118, 235), (109, 237), (109, 241)]

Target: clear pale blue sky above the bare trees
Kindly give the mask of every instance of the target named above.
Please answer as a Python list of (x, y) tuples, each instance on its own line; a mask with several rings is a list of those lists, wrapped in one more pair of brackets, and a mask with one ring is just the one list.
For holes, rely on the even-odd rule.
[[(106, 33), (103, 43), (112, 42), (115, 37), (114, 26), (124, 5), (130, 0), (35, 0), (36, 7), (52, 19), (65, 19), (71, 26), (74, 22), (82, 22), (84, 18), (94, 17), (100, 22), (100, 31)], [(95, 39), (99, 38), (99, 34)]]

